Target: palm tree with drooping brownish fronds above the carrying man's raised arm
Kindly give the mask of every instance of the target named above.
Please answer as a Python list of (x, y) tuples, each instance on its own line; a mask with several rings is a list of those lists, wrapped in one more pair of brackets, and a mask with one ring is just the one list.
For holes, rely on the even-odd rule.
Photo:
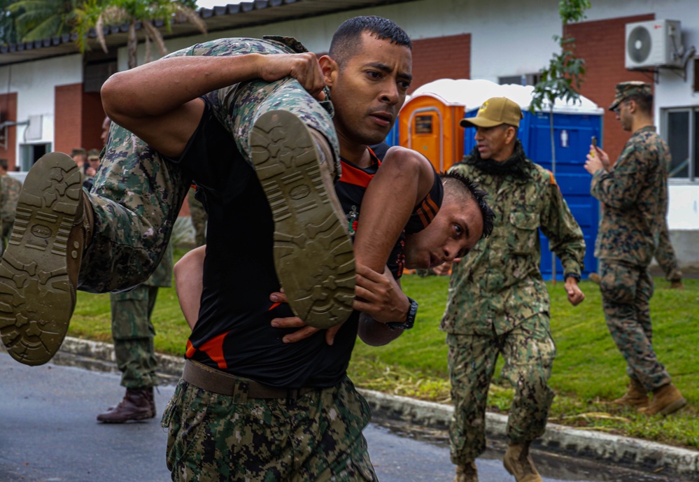
[(82, 8), (76, 10), (78, 22), (75, 29), (78, 34), (80, 52), (87, 50), (87, 35), (94, 29), (102, 50), (107, 52), (104, 38), (104, 27), (108, 25), (129, 25), (127, 40), (128, 66), (133, 69), (137, 65), (139, 38), (136, 27), (140, 24), (146, 41), (146, 62), (150, 62), (151, 44), (155, 43), (160, 55), (167, 54), (167, 48), (160, 30), (153, 24), (154, 20), (162, 20), (168, 31), (171, 30), (175, 18), (194, 24), (199, 31), (206, 33), (206, 24), (191, 2), (171, 0), (87, 0)]

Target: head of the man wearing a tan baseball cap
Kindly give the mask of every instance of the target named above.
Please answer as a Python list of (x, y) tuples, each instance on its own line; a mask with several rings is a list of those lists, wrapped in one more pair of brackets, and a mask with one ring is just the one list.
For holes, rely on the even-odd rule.
[(462, 119), (461, 127), (475, 127), (476, 149), (481, 158), (506, 161), (514, 145), (522, 118), (522, 109), (507, 97), (491, 97), (483, 102), (476, 117)]

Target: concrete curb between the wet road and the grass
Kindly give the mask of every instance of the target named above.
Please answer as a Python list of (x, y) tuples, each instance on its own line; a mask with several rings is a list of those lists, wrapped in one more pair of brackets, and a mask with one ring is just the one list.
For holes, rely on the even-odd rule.
[[(66, 337), (61, 350), (101, 362), (115, 361), (114, 347), (109, 343)], [(162, 374), (176, 377), (182, 374), (184, 363), (182, 357), (157, 354), (157, 361), (158, 371)], [(449, 420), (453, 413), (451, 406), (388, 395), (373, 390), (359, 391), (375, 413), (404, 420), (413, 425), (425, 425), (437, 429), (449, 427)], [(488, 437), (504, 439), (507, 416), (486, 413), (486, 427)], [(699, 481), (699, 451), (685, 448), (603, 432), (576, 430), (553, 423), (547, 425), (544, 437), (535, 442), (535, 448), (580, 458), (605, 460), (617, 465), (633, 466), (635, 469), (639, 467), (649, 471), (662, 469), (663, 474), (689, 476), (689, 480)]]

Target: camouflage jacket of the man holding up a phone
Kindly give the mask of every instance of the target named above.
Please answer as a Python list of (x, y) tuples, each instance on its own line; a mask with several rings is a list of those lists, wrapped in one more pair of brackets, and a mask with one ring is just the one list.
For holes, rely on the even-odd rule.
[(668, 213), (670, 149), (653, 126), (633, 133), (607, 172), (592, 176), (591, 194), (605, 204), (595, 256), (647, 267)]

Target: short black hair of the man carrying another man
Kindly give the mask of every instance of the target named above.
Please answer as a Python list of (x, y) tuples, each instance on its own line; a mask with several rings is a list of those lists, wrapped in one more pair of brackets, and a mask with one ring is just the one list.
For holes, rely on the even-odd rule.
[(402, 45), (409, 50), (413, 48), (408, 34), (393, 20), (376, 15), (365, 15), (345, 20), (337, 28), (330, 42), (330, 51), (328, 52), (330, 58), (338, 65), (342, 65), (357, 51), (358, 46), (361, 45), (360, 37), (365, 31), (379, 40), (388, 39), (390, 43)]

